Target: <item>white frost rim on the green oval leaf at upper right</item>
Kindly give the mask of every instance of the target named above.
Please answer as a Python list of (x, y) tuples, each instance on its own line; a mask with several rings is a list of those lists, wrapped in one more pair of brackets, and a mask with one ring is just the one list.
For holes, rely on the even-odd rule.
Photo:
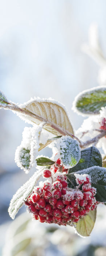
[[(101, 86), (97, 86), (97, 87), (93, 87), (92, 89), (88, 89), (88, 90), (84, 90), (84, 91), (82, 91), (81, 93), (79, 93), (76, 97), (75, 97), (75, 99), (74, 99), (74, 101), (73, 101), (73, 106), (72, 106), (72, 110), (74, 111), (74, 112), (76, 112), (78, 115), (81, 115), (81, 116), (86, 116), (86, 114), (87, 114), (87, 111), (86, 111), (86, 114), (84, 114), (84, 113), (82, 113), (82, 112), (79, 112), (78, 111), (78, 109), (76, 108), (76, 103), (77, 103), (77, 101), (79, 100), (79, 99), (81, 99), (82, 98), (82, 96), (84, 96), (84, 94), (90, 94), (90, 93), (92, 93), (94, 90), (98, 90), (98, 89), (101, 89), (101, 91), (104, 91), (104, 89), (106, 90), (106, 86), (102, 86), (102, 88), (101, 88)], [(89, 113), (87, 114), (87, 116), (91, 116)]]

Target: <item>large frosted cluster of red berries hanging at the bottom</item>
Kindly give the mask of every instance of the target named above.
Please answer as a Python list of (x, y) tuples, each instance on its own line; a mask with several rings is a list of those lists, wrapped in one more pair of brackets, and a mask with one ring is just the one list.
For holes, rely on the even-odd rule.
[[(78, 188), (68, 188), (66, 173), (53, 173), (45, 169), (43, 176), (49, 178), (42, 187), (35, 187), (25, 204), (33, 218), (40, 222), (66, 225), (78, 222), (90, 210), (95, 210), (96, 189), (91, 187), (90, 177), (77, 175)], [(81, 186), (81, 190), (79, 187)]]

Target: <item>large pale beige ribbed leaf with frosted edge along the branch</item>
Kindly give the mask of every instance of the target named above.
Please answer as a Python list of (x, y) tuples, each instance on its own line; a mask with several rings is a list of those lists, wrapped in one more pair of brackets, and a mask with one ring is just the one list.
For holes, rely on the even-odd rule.
[[(29, 121), (39, 125), (42, 122), (42, 118), (44, 121), (52, 122), (54, 125), (58, 125), (58, 127), (74, 134), (66, 109), (61, 103), (52, 99), (34, 98), (20, 105), (20, 107), (27, 111), (27, 114), (30, 112), (35, 115), (35, 117), (31, 117), (30, 114), (26, 116), (25, 118)], [(21, 115), (21, 117), (24, 119), (24, 116)], [(54, 127), (51, 127), (49, 123), (44, 126), (44, 129), (57, 136), (61, 134), (61, 132), (57, 131)]]

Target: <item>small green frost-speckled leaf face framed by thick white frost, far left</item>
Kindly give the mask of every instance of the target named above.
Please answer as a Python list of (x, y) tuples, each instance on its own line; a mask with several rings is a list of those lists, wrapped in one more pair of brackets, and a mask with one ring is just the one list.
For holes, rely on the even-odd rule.
[(30, 150), (26, 148), (22, 148), (20, 151), (20, 162), (22, 166), (28, 170), (30, 164)]

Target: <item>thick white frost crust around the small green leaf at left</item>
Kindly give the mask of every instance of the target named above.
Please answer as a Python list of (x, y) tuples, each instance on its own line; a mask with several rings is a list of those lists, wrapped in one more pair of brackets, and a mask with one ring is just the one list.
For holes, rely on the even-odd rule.
[[(28, 173), (30, 168), (36, 167), (36, 157), (38, 155), (38, 148), (39, 148), (39, 134), (42, 130), (43, 123), (40, 125), (34, 125), (33, 127), (25, 127), (23, 131), (23, 140), (21, 142), (21, 145), (17, 147), (16, 153), (15, 153), (15, 162), (17, 163), (17, 166), (21, 169), (24, 169), (25, 173)], [(24, 159), (22, 158), (22, 151), (23, 148), (26, 150), (30, 150), (29, 153), (26, 153), (24, 155)], [(29, 167), (24, 167), (26, 157), (29, 154)]]

